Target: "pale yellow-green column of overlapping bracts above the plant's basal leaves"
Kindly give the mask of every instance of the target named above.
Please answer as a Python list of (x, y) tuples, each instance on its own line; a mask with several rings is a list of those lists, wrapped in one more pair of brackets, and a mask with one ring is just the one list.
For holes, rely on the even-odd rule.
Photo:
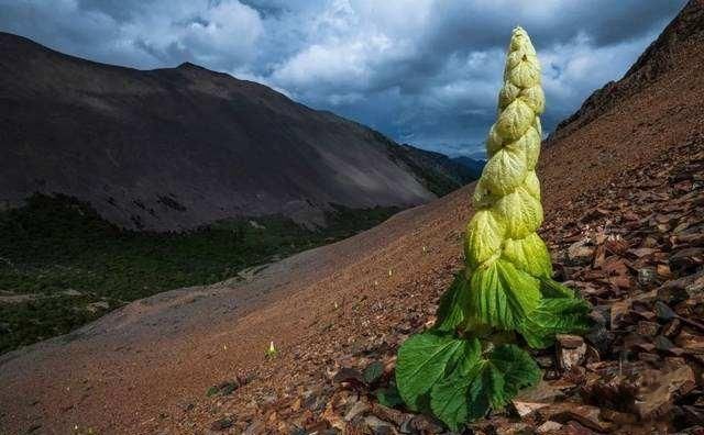
[(488, 160), (474, 191), (477, 211), (466, 228), (468, 327), (518, 328), (539, 304), (538, 278), (551, 278), (550, 254), (536, 233), (542, 223), (536, 165), (543, 109), (538, 56), (517, 27), (488, 134)]

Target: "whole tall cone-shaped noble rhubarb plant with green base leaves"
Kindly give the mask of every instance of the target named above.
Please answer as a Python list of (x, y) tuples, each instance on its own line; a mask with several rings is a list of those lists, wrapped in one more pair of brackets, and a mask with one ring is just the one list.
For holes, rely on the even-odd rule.
[[(518, 344), (544, 348), (558, 333), (588, 327), (590, 306), (552, 280), (536, 164), (544, 109), (540, 65), (528, 34), (513, 31), (488, 160), (466, 227), (465, 269), (443, 294), (436, 324), (398, 352), (406, 405), (457, 430), (503, 408), (541, 372)], [(521, 338), (522, 337), (522, 338)]]

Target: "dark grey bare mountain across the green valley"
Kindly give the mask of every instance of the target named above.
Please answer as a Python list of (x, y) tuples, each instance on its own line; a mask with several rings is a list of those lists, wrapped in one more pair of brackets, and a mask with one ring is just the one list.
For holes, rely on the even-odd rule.
[[(461, 186), (457, 167), (411, 168), (377, 132), (265, 86), (191, 64), (97, 64), (8, 33), (0, 122), (1, 201), (64, 193), (131, 228), (322, 224), (331, 204), (409, 207)], [(452, 182), (438, 188), (437, 172)]]

